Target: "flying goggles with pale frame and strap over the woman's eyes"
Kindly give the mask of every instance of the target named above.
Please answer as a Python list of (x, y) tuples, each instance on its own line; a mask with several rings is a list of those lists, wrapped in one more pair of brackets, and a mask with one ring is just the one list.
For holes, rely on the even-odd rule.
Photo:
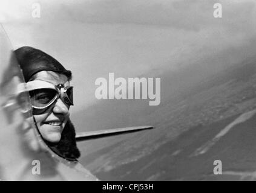
[(34, 109), (45, 109), (61, 98), (67, 106), (73, 105), (73, 86), (64, 87), (63, 84), (51, 84), (42, 80), (26, 83), (30, 94), (30, 101)]

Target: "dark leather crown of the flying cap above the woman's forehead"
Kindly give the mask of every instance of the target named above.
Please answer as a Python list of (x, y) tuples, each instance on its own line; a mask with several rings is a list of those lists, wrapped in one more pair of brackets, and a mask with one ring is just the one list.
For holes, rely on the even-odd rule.
[(71, 71), (65, 69), (56, 59), (39, 49), (23, 46), (16, 49), (15, 54), (21, 66), (25, 82), (40, 71), (58, 72), (67, 75), (67, 77), (70, 76), (68, 78), (71, 78)]

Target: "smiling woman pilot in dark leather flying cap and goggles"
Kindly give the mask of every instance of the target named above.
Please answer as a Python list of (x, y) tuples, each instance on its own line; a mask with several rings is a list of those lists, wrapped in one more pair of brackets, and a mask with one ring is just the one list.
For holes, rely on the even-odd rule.
[(45, 143), (59, 156), (76, 160), (75, 130), (70, 121), (73, 105), (71, 71), (45, 52), (24, 46), (15, 50), (33, 107), (33, 117)]

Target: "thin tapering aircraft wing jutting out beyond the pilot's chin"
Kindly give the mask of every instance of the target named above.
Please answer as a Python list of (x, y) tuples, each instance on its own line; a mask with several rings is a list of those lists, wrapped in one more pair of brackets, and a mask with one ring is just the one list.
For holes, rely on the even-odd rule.
[(154, 128), (153, 126), (146, 125), (146, 126), (138, 126), (138, 127), (124, 127), (124, 128), (112, 128), (107, 130), (99, 130), (99, 131), (87, 131), (81, 132), (76, 134), (76, 141), (85, 141), (89, 139), (97, 139), (97, 138), (104, 138), (107, 136), (113, 136), (117, 134), (123, 133), (131, 133), (146, 129)]

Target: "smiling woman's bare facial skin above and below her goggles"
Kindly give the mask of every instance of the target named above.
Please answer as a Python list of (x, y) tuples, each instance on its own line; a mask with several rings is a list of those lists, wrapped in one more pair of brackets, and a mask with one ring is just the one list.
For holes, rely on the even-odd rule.
[[(42, 80), (52, 84), (64, 84), (70, 86), (70, 82), (65, 75), (53, 71), (41, 71), (35, 74), (31, 80)], [(30, 81), (31, 81), (30, 80)], [(69, 119), (69, 106), (58, 98), (55, 103), (48, 107), (43, 113), (34, 115), (36, 124), (42, 134), (42, 138), (51, 143), (61, 140), (61, 133)]]

